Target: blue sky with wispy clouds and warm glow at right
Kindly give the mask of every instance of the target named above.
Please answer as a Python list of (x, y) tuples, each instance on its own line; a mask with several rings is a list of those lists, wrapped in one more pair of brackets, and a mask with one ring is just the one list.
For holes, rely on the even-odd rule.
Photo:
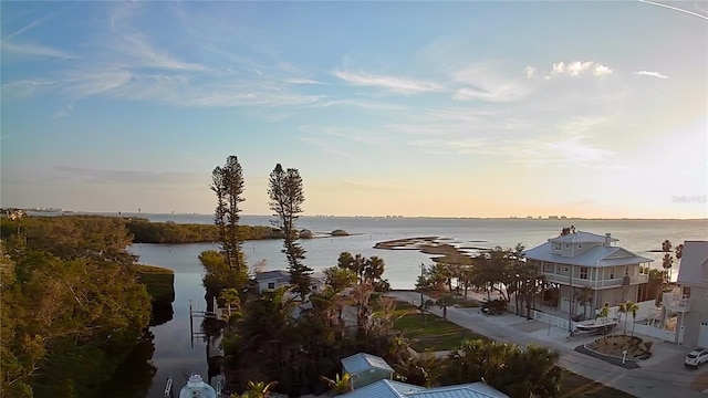
[(12, 2), (2, 207), (708, 217), (708, 3)]

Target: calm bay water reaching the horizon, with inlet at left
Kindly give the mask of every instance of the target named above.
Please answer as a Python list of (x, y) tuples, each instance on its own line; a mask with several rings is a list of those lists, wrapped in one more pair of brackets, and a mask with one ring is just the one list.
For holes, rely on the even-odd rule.
[[(123, 214), (128, 216), (128, 214)], [(178, 223), (211, 223), (210, 216), (201, 214), (139, 214), (154, 221)], [(268, 226), (269, 217), (246, 216), (242, 224)], [(308, 251), (306, 263), (315, 271), (336, 264), (341, 252), (378, 255), (384, 259), (388, 279), (394, 289), (412, 289), (419, 274), (420, 263), (431, 264), (430, 258), (413, 250), (377, 250), (373, 245), (383, 240), (435, 235), (449, 238), (458, 245), (510, 248), (521, 242), (531, 248), (559, 234), (563, 227), (573, 224), (577, 230), (604, 234), (611, 232), (620, 239), (618, 245), (641, 255), (655, 259), (653, 266), (660, 268), (660, 253), (648, 250), (660, 249), (665, 239), (674, 244), (684, 240), (708, 240), (708, 220), (524, 220), (524, 219), (394, 219), (394, 218), (314, 218), (303, 217), (298, 224), (314, 232), (331, 232), (344, 229), (352, 233), (343, 238), (303, 240)], [(136, 244), (131, 250), (140, 256), (140, 262), (162, 265), (175, 271), (174, 317), (166, 324), (152, 327), (155, 334), (153, 365), (157, 374), (153, 378), (149, 398), (163, 397), (168, 375), (175, 377), (177, 391), (189, 373), (207, 375), (205, 344), (196, 339), (190, 346), (189, 301), (204, 308), (201, 265), (197, 260), (204, 250), (218, 249), (216, 244)], [(264, 261), (267, 270), (284, 269), (281, 241), (244, 242), (243, 252), (249, 265)], [(674, 275), (678, 274), (678, 266)], [(198, 327), (198, 322), (196, 324)]]

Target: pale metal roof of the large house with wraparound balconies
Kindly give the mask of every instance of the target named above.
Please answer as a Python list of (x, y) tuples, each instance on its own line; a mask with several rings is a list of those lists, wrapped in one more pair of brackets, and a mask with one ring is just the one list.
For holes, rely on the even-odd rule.
[(551, 252), (551, 244), (552, 241), (545, 242), (524, 251), (523, 254), (529, 260), (592, 268), (633, 265), (654, 261), (620, 247), (594, 247), (575, 256), (563, 256)]

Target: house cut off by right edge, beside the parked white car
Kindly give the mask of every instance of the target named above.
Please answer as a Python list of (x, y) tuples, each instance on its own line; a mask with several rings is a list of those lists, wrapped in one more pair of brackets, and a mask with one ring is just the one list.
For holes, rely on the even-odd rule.
[(686, 241), (677, 289), (663, 303), (677, 313), (676, 343), (708, 348), (708, 241)]

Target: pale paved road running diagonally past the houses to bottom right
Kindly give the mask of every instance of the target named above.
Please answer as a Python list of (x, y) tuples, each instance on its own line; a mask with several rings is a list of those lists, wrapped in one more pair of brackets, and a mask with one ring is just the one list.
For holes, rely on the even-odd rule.
[[(420, 302), (420, 293), (417, 292), (391, 292), (388, 295), (416, 305)], [(426, 297), (428, 298), (430, 297)], [(433, 308), (431, 312), (442, 316), (440, 308)], [(685, 369), (683, 364), (688, 350), (686, 347), (657, 342), (652, 347), (652, 358), (638, 363), (641, 368), (624, 369), (574, 350), (596, 336), (576, 336), (569, 341), (568, 332), (558, 327), (546, 327), (539, 321), (525, 321), (513, 314), (485, 316), (478, 308), (448, 308), (447, 318), (496, 341), (521, 346), (535, 343), (556, 349), (561, 354), (559, 365), (562, 367), (636, 397), (708, 397), (689, 387), (694, 378), (708, 373), (708, 369)]]

